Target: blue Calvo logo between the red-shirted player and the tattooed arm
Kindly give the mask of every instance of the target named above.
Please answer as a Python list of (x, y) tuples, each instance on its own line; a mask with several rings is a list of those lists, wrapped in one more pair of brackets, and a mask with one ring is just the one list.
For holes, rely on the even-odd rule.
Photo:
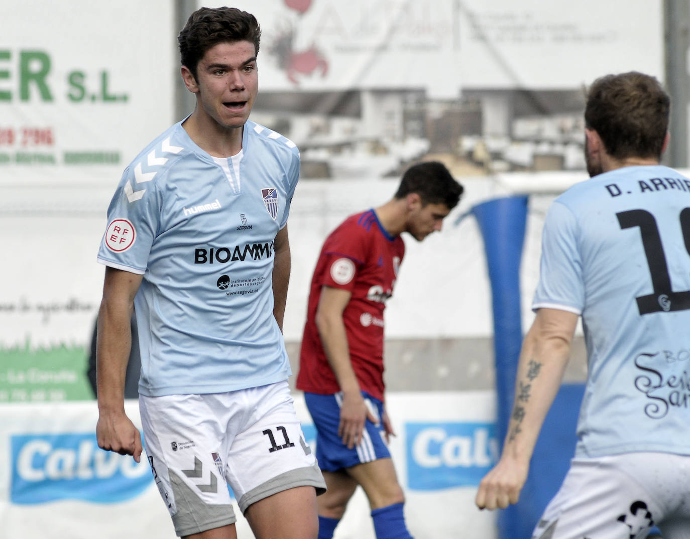
[(493, 466), (493, 423), (406, 423), (407, 485), (415, 490), (476, 487)]

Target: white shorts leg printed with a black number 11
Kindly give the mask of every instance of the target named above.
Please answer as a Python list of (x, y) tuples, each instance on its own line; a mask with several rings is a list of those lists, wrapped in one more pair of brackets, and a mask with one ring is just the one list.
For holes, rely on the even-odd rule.
[(324, 491), (324, 478), (304, 440), (288, 384), (244, 390), (243, 398), (250, 413), (226, 458), (226, 476), (239, 509), (244, 513), (250, 505), (295, 487)]

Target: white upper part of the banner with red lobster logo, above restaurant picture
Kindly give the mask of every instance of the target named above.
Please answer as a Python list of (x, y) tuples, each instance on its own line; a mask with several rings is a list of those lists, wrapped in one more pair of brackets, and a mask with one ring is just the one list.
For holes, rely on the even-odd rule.
[(571, 90), (609, 72), (663, 74), (660, 0), (238, 0), (233, 6), (262, 26), (261, 88), (271, 92), (403, 88), (452, 99), (461, 87)]

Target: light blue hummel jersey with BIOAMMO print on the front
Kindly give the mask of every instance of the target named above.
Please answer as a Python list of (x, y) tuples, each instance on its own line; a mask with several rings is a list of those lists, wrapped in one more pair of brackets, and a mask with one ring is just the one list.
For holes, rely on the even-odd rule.
[(180, 122), (125, 170), (98, 261), (144, 276), (141, 394), (235, 391), (291, 374), (271, 274), (298, 177), (295, 144), (252, 121), (237, 156), (210, 156)]

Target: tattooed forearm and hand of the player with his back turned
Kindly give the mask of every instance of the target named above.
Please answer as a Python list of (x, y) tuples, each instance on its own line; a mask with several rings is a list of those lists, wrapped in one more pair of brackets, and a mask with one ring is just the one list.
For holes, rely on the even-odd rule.
[(571, 312), (537, 312), (522, 343), (515, 403), (501, 458), (484, 476), (477, 491), (475, 502), (480, 509), (504, 509), (520, 498), (529, 460), (569, 360), (577, 323), (578, 315)]

